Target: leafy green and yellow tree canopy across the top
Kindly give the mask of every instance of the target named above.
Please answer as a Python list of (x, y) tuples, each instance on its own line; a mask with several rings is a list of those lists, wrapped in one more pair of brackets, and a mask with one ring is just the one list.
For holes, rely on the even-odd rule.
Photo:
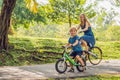
[[(109, 12), (104, 8), (95, 9), (95, 7), (99, 5), (99, 1), (97, 0), (89, 5), (86, 5), (86, 1), (87, 0), (49, 0), (49, 4), (38, 5), (36, 0), (17, 0), (12, 24), (15, 28), (20, 26), (28, 28), (35, 24), (50, 22), (59, 24), (71, 22), (78, 24), (80, 13), (85, 13), (87, 17), (91, 19), (92, 24), (94, 24), (93, 26), (107, 27), (112, 25), (115, 16), (119, 15), (118, 12), (116, 12), (117, 10), (115, 11), (114, 9)], [(113, 3), (113, 1), (108, 2)], [(0, 3), (2, 3), (2, 0)], [(112, 5), (117, 9), (119, 7), (119, 0), (114, 0), (114, 3), (115, 4)], [(33, 12), (37, 13), (34, 14)]]

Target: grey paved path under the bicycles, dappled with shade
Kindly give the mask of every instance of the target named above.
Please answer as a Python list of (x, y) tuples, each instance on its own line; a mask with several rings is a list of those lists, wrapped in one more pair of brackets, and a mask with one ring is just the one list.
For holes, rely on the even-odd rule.
[(93, 66), (89, 62), (85, 72), (78, 72), (75, 70), (74, 73), (66, 72), (59, 74), (55, 71), (55, 64), (43, 64), (33, 66), (4, 66), (0, 67), (0, 80), (38, 80), (47, 78), (74, 78), (92, 76), (97, 74), (109, 73), (109, 74), (120, 74), (120, 60), (105, 60), (99, 65)]

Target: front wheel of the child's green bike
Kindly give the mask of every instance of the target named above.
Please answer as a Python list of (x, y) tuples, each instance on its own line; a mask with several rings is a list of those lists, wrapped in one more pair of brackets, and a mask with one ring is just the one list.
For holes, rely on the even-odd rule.
[(67, 63), (64, 59), (59, 59), (55, 64), (55, 69), (58, 73), (64, 73), (67, 70)]

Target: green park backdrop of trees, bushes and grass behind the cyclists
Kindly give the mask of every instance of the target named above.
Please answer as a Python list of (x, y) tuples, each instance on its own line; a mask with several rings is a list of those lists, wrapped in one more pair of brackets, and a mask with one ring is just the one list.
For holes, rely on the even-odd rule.
[[(0, 9), (2, 3), (0, 0)], [(61, 46), (67, 43), (70, 27), (79, 25), (81, 13), (91, 23), (103, 59), (120, 59), (119, 0), (17, 0), (8, 34), (9, 49), (7, 54), (0, 53), (0, 65), (55, 62), (62, 55)]]

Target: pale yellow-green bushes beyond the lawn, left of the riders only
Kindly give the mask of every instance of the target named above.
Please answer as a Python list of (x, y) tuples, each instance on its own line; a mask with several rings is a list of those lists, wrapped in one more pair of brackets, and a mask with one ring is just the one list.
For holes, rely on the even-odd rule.
[(29, 30), (25, 28), (18, 28), (16, 35), (26, 35), (26, 36), (34, 36), (34, 37), (47, 37), (47, 38), (66, 38), (68, 35), (69, 27), (67, 24), (57, 25), (57, 24), (49, 24), (49, 25), (36, 25), (34, 27), (30, 27)]

